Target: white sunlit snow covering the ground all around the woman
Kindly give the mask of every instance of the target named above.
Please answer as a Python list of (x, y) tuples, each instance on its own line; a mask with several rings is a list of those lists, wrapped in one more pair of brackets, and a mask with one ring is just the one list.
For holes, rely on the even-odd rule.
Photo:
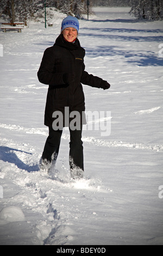
[(108, 120), (111, 132), (84, 129), (79, 181), (68, 171), (67, 130), (54, 172), (38, 167), (48, 129), (47, 86), (36, 73), (65, 15), (55, 12), (46, 29), (29, 22), (22, 33), (0, 32), (1, 245), (163, 244), (163, 22), (140, 22), (128, 11), (95, 8), (80, 20), (86, 71), (111, 84), (84, 86), (86, 111), (110, 111), (94, 124)]

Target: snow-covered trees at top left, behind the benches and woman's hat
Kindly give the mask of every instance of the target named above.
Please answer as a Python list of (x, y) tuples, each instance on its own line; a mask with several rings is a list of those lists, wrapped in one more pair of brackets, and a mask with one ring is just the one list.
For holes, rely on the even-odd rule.
[[(91, 4), (90, 0), (90, 4)], [(14, 3), (14, 5), (13, 5)], [(0, 1), (0, 14), (12, 21), (12, 7), (15, 8), (15, 20), (26, 21), (32, 19), (36, 14), (43, 15), (45, 0), (3, 0)], [(46, 0), (47, 7), (55, 7), (62, 13), (82, 17), (87, 11), (86, 0)], [(91, 5), (90, 5), (91, 7)]]

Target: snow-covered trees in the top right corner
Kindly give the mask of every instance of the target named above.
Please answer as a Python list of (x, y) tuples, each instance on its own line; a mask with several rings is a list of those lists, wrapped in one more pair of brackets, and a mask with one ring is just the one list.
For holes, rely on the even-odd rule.
[(130, 14), (137, 19), (163, 19), (163, 0), (131, 0), (130, 5)]

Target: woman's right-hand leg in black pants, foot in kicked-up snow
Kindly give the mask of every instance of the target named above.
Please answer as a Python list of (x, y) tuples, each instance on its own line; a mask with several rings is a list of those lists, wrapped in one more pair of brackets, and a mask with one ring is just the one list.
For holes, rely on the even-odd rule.
[(84, 157), (82, 142), (82, 126), (80, 130), (72, 131), (70, 128), (70, 172), (72, 178), (83, 177)]

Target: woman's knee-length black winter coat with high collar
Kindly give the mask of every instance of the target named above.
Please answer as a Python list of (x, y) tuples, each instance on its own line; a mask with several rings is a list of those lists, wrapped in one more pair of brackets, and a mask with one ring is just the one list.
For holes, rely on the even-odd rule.
[[(52, 127), (54, 111), (65, 114), (65, 107), (70, 112), (78, 111), (81, 124), (86, 124), (85, 101), (82, 84), (100, 88), (102, 78), (89, 75), (84, 65), (85, 50), (78, 39), (67, 42), (60, 34), (52, 47), (45, 50), (37, 72), (39, 81), (48, 84), (45, 108), (45, 125)], [(66, 126), (65, 123), (63, 126)]]

